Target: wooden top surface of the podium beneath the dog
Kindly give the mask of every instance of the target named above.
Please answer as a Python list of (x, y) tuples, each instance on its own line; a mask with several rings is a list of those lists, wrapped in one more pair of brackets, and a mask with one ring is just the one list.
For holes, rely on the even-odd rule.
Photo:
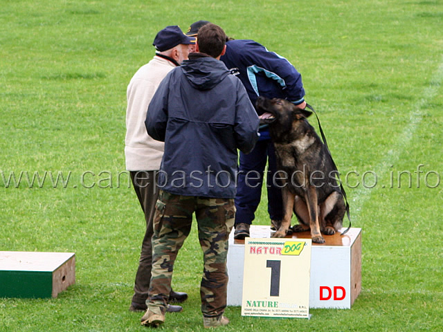
[[(344, 232), (346, 228), (342, 228), (341, 232)], [(263, 226), (263, 225), (251, 225), (250, 233), (251, 237), (257, 239), (267, 239), (271, 237), (271, 233), (274, 231), (271, 230), (271, 226)], [(334, 235), (325, 235), (323, 234), (323, 238), (325, 239), (325, 243), (312, 243), (313, 246), (352, 246), (354, 241), (359, 234), (361, 233), (361, 228), (350, 228), (350, 230), (341, 235), (341, 232), (336, 232)], [(300, 232), (300, 233), (292, 233), (291, 235), (286, 236), (287, 239), (311, 239), (311, 232)], [(230, 232), (229, 237), (230, 244), (243, 244), (244, 240), (234, 239), (234, 229)]]

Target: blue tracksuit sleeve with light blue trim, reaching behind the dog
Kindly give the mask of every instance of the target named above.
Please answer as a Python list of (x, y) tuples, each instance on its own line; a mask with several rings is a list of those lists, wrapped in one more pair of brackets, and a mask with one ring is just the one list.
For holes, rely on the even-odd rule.
[(252, 42), (245, 48), (244, 57), (246, 63), (252, 64), (247, 68), (250, 80), (256, 73), (262, 72), (285, 89), (289, 101), (300, 104), (305, 100), (302, 75), (287, 59), (270, 52), (257, 42)]

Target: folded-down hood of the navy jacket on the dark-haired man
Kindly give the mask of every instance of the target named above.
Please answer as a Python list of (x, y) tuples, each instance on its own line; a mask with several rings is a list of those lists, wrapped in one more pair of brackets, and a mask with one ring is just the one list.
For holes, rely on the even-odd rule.
[(204, 53), (191, 53), (181, 70), (190, 84), (198, 90), (210, 90), (230, 74), (225, 64)]

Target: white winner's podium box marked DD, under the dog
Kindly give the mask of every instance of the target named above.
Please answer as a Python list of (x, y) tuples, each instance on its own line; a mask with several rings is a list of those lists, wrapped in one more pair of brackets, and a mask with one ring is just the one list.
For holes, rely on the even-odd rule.
[[(270, 238), (272, 231), (270, 226), (251, 225), (250, 232), (252, 238), (263, 239)], [(325, 243), (312, 243), (311, 248), (309, 308), (351, 308), (361, 292), (361, 228), (350, 228), (343, 236), (323, 237)], [(287, 238), (311, 239), (311, 234), (293, 233)], [(228, 306), (242, 305), (243, 268), (244, 240), (235, 240), (233, 230), (228, 250)]]

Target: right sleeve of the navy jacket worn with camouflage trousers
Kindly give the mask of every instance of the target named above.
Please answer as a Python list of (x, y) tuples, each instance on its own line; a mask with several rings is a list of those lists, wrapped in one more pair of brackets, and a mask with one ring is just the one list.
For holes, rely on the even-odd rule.
[(255, 112), (251, 101), (248, 98), (246, 89), (240, 80), (237, 81), (237, 102), (235, 113), (235, 142), (237, 149), (244, 154), (248, 154), (255, 147), (258, 135), (260, 120)]

